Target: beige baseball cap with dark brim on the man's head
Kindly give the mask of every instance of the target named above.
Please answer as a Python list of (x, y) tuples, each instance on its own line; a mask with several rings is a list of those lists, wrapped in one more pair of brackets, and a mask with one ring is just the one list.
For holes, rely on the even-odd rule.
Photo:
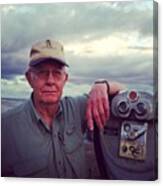
[(35, 43), (30, 51), (30, 66), (35, 66), (39, 63), (48, 60), (58, 62), (64, 66), (69, 66), (65, 62), (63, 45), (52, 39), (47, 39)]

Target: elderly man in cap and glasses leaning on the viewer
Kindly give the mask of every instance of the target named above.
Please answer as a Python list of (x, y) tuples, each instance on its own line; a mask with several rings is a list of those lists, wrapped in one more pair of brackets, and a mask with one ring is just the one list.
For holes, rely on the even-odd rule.
[(117, 84), (97, 81), (89, 96), (64, 97), (68, 64), (54, 40), (33, 45), (26, 79), (33, 89), (24, 104), (2, 115), (2, 176), (87, 178), (83, 132), (109, 118), (108, 93)]

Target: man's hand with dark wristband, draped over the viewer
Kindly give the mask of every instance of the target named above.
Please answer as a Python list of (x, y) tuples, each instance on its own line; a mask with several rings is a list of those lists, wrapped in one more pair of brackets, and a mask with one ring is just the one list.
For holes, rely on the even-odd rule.
[(110, 117), (109, 95), (120, 91), (123, 86), (119, 83), (109, 83), (108, 92), (106, 83), (94, 84), (89, 92), (86, 108), (86, 120), (88, 128), (94, 129), (94, 122), (99, 129), (103, 129)]

